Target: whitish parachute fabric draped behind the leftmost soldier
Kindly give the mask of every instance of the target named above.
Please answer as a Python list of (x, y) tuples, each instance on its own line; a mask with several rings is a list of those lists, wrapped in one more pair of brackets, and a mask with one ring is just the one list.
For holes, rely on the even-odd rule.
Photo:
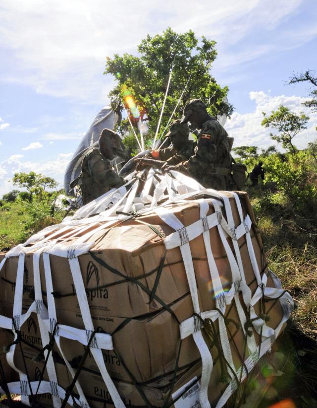
[(71, 194), (69, 185), (79, 176), (84, 154), (89, 148), (92, 148), (94, 144), (97, 146), (102, 130), (106, 128), (112, 130), (117, 120), (118, 115), (111, 109), (110, 105), (105, 106), (100, 112), (98, 112), (86, 135), (81, 139), (79, 146), (66, 168), (64, 175), (64, 189), (66, 194)]

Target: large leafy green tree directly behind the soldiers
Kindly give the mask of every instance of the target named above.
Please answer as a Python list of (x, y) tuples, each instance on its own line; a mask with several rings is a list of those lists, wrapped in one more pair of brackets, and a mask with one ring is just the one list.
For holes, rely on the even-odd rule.
[[(114, 54), (107, 57), (105, 74), (112, 74), (117, 84), (109, 97), (113, 108), (122, 110), (120, 101), (128, 111), (134, 127), (139, 114), (147, 120), (148, 137), (153, 137), (159, 122), (170, 69), (173, 66), (161, 132), (165, 128), (179, 97), (190, 77), (173, 119), (181, 117), (183, 108), (192, 98), (199, 98), (208, 105), (212, 115), (230, 115), (233, 107), (225, 102), (228, 87), (221, 87), (211, 76), (210, 68), (216, 58), (215, 41), (202, 37), (201, 44), (193, 31), (178, 34), (167, 28), (162, 35), (148, 35), (138, 46), (139, 56)], [(138, 107), (138, 110), (137, 110)], [(139, 112), (138, 112), (139, 111)], [(128, 129), (127, 120), (119, 125), (119, 131)]]

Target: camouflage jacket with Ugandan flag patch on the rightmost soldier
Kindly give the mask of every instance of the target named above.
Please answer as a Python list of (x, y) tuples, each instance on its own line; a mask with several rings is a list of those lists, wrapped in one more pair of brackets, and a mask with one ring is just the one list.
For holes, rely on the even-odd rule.
[(195, 154), (175, 170), (189, 173), (206, 188), (231, 190), (231, 155), (228, 134), (215, 119), (205, 122), (197, 136)]

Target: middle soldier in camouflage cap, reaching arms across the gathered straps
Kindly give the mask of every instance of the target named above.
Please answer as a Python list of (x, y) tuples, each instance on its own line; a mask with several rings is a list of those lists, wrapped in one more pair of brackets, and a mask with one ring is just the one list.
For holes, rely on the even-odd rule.
[(194, 142), (188, 140), (189, 127), (187, 123), (180, 124), (180, 120), (174, 121), (169, 126), (169, 132), (165, 137), (169, 137), (171, 145), (152, 152), (140, 159), (137, 159), (138, 168), (153, 166), (164, 168), (172, 166), (184, 160), (188, 160), (194, 154)]

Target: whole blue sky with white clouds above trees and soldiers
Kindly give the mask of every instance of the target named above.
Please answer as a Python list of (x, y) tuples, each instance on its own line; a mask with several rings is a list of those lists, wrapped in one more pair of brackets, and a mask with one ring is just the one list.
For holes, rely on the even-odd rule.
[(262, 111), (284, 104), (311, 117), (294, 140), (317, 137), (303, 109), (308, 84), (286, 82), (317, 69), (316, 0), (2, 0), (0, 5), (0, 196), (16, 171), (62, 184), (65, 167), (113, 86), (106, 56), (136, 53), (167, 26), (217, 41), (212, 74), (235, 106), (225, 128), (234, 145), (273, 144)]

